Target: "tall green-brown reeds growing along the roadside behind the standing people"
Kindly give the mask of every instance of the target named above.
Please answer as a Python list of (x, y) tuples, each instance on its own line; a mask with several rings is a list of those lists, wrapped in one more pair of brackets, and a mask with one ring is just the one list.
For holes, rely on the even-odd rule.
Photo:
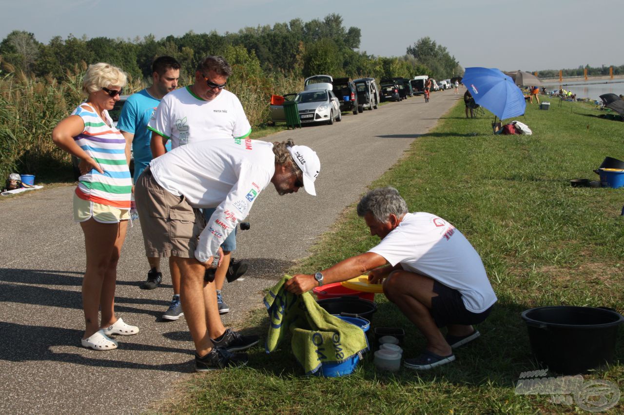
[[(84, 100), (81, 85), (86, 64), (67, 70), (62, 82), (52, 77), (26, 76), (2, 62), (1, 57), (0, 65), (0, 183), (9, 173), (31, 173), (49, 179), (67, 177), (71, 171), (69, 155), (54, 146), (51, 131)], [(303, 79), (265, 75), (256, 62), (248, 60), (232, 66), (233, 75), (227, 88), (240, 98), (252, 127), (268, 120), (272, 94), (303, 89)], [(192, 80), (193, 77), (182, 76), (183, 84)], [(147, 86), (145, 80), (129, 79), (124, 93), (134, 93)]]

